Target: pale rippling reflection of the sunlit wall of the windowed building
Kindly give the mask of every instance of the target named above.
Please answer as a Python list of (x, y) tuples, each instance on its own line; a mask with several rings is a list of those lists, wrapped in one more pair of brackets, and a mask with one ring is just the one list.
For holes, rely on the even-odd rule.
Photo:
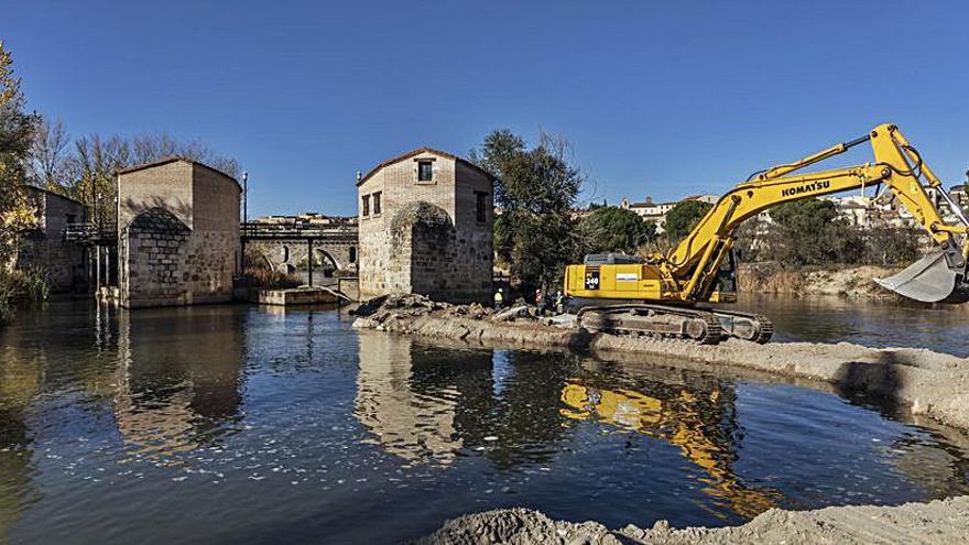
[(455, 433), (456, 396), (415, 391), (409, 337), (360, 330), (358, 339), (353, 414), (386, 451), (416, 462), (449, 464), (461, 448)]

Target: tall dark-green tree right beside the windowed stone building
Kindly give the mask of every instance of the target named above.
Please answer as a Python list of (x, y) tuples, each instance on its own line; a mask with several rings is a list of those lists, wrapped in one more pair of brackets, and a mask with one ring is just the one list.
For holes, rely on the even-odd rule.
[(580, 253), (571, 207), (585, 177), (571, 164), (568, 144), (542, 133), (529, 150), (505, 129), (486, 137), (470, 156), (497, 178), (494, 249), (512, 276), (525, 292), (557, 283)]

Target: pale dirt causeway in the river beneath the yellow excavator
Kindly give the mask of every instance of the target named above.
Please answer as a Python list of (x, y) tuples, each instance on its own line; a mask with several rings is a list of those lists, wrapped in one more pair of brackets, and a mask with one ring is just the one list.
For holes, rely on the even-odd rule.
[(418, 296), (388, 298), (362, 312), (356, 328), (378, 329), (472, 344), (532, 349), (588, 350), (599, 359), (662, 357), (664, 366), (706, 364), (747, 369), (834, 385), (864, 394), (914, 415), (969, 429), (969, 360), (916, 348), (875, 349), (838, 342), (756, 345), (729, 339), (717, 346), (652, 338), (589, 334), (568, 321), (537, 319), (526, 310), (490, 310), (432, 303)]

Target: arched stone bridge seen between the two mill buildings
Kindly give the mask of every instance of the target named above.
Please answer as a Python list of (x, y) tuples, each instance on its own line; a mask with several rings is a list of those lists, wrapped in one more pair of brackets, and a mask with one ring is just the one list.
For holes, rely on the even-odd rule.
[(357, 272), (357, 229), (349, 227), (280, 226), (250, 222), (242, 225), (246, 252), (264, 259), (273, 269), (296, 272), (313, 269), (320, 276), (326, 271)]

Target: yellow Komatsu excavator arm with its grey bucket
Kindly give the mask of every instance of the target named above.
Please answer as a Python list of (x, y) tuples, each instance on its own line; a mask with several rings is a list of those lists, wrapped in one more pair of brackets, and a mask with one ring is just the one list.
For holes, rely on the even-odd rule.
[[(860, 166), (792, 174), (820, 161), (871, 142), (875, 162)], [(923, 182), (924, 178), (924, 182)], [(693, 231), (667, 255), (656, 257), (664, 283), (675, 287), (685, 302), (706, 301), (722, 260), (729, 253), (734, 231), (745, 219), (783, 203), (884, 184), (936, 242), (936, 251), (903, 273), (879, 281), (902, 295), (925, 302), (946, 301), (957, 294), (966, 279), (969, 258), (967, 220), (963, 211), (945, 193), (941, 183), (924, 164), (918, 152), (895, 126), (882, 124), (869, 134), (840, 143), (795, 163), (756, 173), (723, 195)], [(929, 188), (946, 201), (957, 222), (943, 218)]]

